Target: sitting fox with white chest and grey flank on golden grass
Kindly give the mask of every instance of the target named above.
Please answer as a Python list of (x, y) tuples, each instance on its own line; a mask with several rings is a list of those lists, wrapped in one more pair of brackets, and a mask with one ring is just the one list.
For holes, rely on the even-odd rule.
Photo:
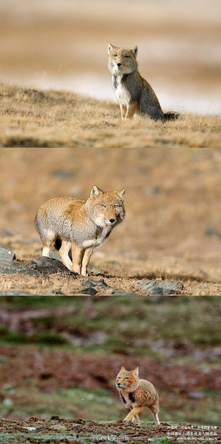
[(120, 103), (122, 119), (135, 114), (154, 120), (170, 120), (180, 117), (173, 111), (164, 113), (150, 84), (137, 69), (138, 47), (118, 48), (108, 44), (107, 66), (112, 73), (112, 85)]

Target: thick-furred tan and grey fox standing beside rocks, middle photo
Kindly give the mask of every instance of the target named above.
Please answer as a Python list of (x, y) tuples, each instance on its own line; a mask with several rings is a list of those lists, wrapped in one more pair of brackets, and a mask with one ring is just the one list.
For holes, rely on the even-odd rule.
[(124, 219), (124, 196), (125, 188), (105, 193), (94, 185), (87, 201), (58, 197), (45, 202), (35, 217), (43, 242), (42, 256), (49, 257), (50, 249), (59, 249), (64, 265), (86, 276), (94, 248), (102, 245)]

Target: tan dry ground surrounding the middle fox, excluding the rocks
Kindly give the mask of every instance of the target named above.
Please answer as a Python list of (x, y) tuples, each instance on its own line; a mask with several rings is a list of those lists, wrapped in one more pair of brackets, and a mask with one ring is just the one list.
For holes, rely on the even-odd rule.
[[(183, 294), (221, 294), (219, 149), (13, 148), (0, 158), (1, 246), (17, 260), (41, 256), (34, 218), (44, 201), (125, 187), (125, 221), (93, 252), (89, 277), (122, 291), (167, 279)], [(80, 280), (4, 274), (1, 289), (72, 294)]]

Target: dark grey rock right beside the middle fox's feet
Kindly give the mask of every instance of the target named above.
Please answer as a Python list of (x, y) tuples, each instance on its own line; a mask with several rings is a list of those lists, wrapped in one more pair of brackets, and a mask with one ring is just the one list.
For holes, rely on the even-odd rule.
[(76, 279), (75, 273), (70, 272), (68, 268), (66, 268), (65, 265), (57, 259), (40, 256), (39, 258), (35, 258), (32, 261), (27, 262), (27, 264), (41, 273), (51, 274), (63, 272)]

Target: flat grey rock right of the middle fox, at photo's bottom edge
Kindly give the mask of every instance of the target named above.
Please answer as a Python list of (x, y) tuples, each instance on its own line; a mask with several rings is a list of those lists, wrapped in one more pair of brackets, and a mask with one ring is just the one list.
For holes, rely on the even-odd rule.
[(147, 294), (169, 296), (179, 294), (183, 289), (183, 284), (178, 281), (144, 281), (138, 288), (144, 290)]

